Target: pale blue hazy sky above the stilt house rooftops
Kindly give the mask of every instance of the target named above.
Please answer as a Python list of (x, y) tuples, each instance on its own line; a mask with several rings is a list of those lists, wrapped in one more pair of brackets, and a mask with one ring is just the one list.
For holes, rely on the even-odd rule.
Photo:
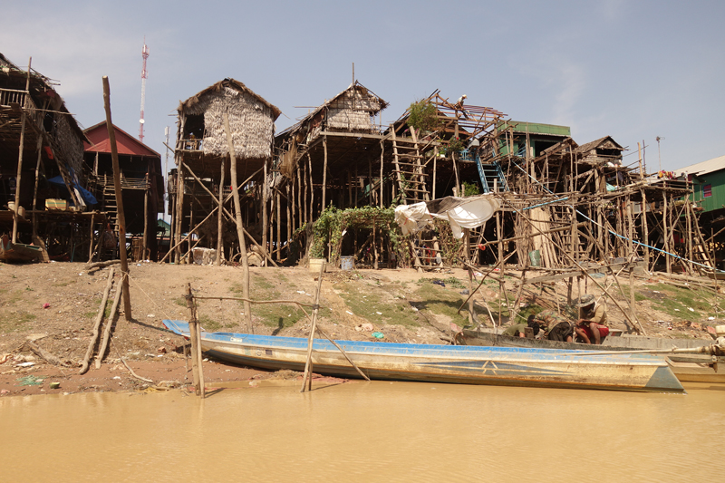
[[(390, 102), (382, 121), (440, 89), (513, 120), (563, 124), (580, 144), (647, 145), (650, 171), (725, 154), (725, 2), (6, 2), (0, 52), (60, 82), (83, 127), (138, 136), (141, 47), (150, 48), (145, 142), (164, 152), (185, 100), (233, 77), (283, 111), (277, 131), (355, 76)], [(10, 21), (12, 19), (12, 21)], [(636, 154), (625, 158), (635, 162)], [(172, 161), (169, 160), (169, 164)]]

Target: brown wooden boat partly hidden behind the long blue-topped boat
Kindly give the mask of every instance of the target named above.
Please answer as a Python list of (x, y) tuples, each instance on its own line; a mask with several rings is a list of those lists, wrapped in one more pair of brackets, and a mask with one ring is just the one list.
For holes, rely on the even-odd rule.
[[(711, 342), (711, 341), (710, 341)], [(546, 339), (512, 337), (501, 333), (465, 329), (456, 334), (456, 343), (469, 346), (521, 347), (569, 351), (638, 351), (669, 349), (672, 343), (681, 348), (693, 348), (708, 343), (706, 340), (674, 341), (656, 337), (607, 337), (602, 345), (564, 343)], [(710, 382), (725, 384), (725, 357), (704, 353), (661, 354), (680, 382)]]

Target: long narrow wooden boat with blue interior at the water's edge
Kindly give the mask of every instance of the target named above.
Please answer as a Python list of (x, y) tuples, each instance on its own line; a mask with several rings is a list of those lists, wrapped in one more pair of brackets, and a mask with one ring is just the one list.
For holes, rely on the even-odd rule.
[[(164, 320), (189, 337), (189, 324)], [(303, 371), (307, 339), (247, 333), (201, 333), (208, 357), (264, 369)], [(617, 391), (684, 389), (667, 362), (649, 354), (583, 355), (516, 347), (336, 341), (371, 379), (452, 382)], [(315, 339), (314, 372), (346, 378), (360, 375), (333, 343)]]

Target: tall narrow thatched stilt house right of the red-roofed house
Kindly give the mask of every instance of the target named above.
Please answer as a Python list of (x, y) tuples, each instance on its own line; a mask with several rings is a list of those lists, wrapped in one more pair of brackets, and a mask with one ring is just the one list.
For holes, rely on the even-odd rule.
[[(182, 233), (194, 231), (199, 246), (216, 248), (227, 259), (238, 252), (233, 220), (218, 218), (220, 204), (231, 213), (231, 184), (242, 184), (242, 217), (248, 232), (261, 223), (258, 210), (259, 186), (272, 158), (275, 120), (280, 111), (242, 82), (225, 79), (179, 104), (175, 160), (169, 194), (172, 200), (172, 233), (175, 259), (179, 261)], [(230, 179), (229, 144), (236, 154), (237, 179)], [(228, 225), (228, 226), (227, 226)], [(186, 250), (184, 251), (186, 253)]]

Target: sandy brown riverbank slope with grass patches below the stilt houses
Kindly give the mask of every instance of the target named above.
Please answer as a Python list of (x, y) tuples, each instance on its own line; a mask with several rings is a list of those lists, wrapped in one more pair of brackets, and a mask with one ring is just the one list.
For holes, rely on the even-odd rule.
[[(115, 266), (116, 285), (120, 277)], [(163, 319), (189, 316), (183, 295), (190, 284), (198, 296), (240, 296), (242, 269), (234, 266), (174, 266), (141, 263), (131, 265), (131, 320), (125, 314), (111, 326), (109, 350), (100, 369), (91, 360), (91, 369), (79, 374), (79, 368), (92, 341), (92, 328), (107, 285), (110, 268), (86, 271), (83, 264), (50, 263), (33, 265), (0, 264), (0, 396), (76, 391), (137, 391), (185, 387), (191, 380), (183, 355), (184, 341), (163, 328)], [(314, 302), (316, 274), (306, 267), (252, 267), (252, 298)], [(510, 304), (516, 296), (515, 273), (507, 282)], [(424, 284), (448, 280), (446, 287)], [(451, 284), (451, 281), (459, 283)], [(646, 291), (657, 280), (640, 281)], [(421, 291), (420, 286), (432, 287)], [(451, 286), (453, 285), (453, 286)], [(455, 314), (467, 296), (467, 272), (461, 269), (445, 273), (420, 274), (412, 269), (331, 270), (324, 275), (320, 304), (320, 326), (336, 339), (373, 340), (372, 332), (384, 333), (385, 341), (406, 343), (446, 343), (457, 326), (468, 324), (464, 315)], [(431, 290), (433, 290), (431, 292)], [(560, 282), (547, 291), (527, 290), (524, 304), (556, 308), (553, 293), (565, 298)], [(111, 306), (115, 288), (111, 291)], [(596, 293), (596, 290), (593, 290)], [(652, 295), (659, 294), (652, 291)], [(432, 300), (432, 303), (430, 299)], [(498, 285), (485, 285), (476, 295), (479, 320), (485, 321), (483, 300), (498, 299)], [(620, 304), (624, 304), (623, 298)], [(306, 336), (310, 321), (294, 305), (283, 304), (265, 309), (253, 308), (255, 333)], [(638, 314), (649, 334), (668, 337), (708, 338), (702, 324), (672, 320), (654, 310), (649, 300), (637, 304)], [(121, 309), (123, 304), (121, 303)], [(622, 314), (609, 306), (614, 328), (627, 330)], [(263, 307), (263, 305), (256, 305)], [(442, 308), (441, 308), (442, 307)], [(207, 330), (247, 332), (243, 305), (237, 301), (201, 300), (198, 314)], [(104, 317), (104, 326), (106, 324)], [(103, 328), (103, 327), (102, 327)], [(51, 353), (63, 365), (45, 362), (25, 342)], [(93, 346), (94, 354), (97, 345)], [(131, 375), (121, 362), (126, 361), (143, 382)], [(264, 372), (215, 361), (204, 362), (208, 385), (267, 379), (295, 380), (295, 372)], [(57, 389), (51, 388), (58, 382)], [(53, 385), (54, 386), (54, 385)], [(154, 389), (156, 388), (156, 389)]]

